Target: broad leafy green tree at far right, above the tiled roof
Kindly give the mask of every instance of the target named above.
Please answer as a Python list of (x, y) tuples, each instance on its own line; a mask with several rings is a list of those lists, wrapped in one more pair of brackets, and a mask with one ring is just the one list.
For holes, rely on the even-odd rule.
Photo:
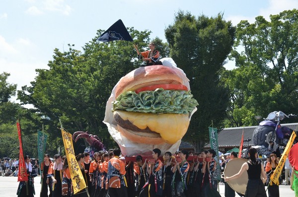
[(243, 20), (237, 25), (231, 53), (237, 68), (223, 77), (231, 91), (227, 127), (255, 125), (254, 116), (273, 111), (298, 113), (297, 29), (297, 9), (271, 15), (270, 21), (258, 16), (252, 24)]

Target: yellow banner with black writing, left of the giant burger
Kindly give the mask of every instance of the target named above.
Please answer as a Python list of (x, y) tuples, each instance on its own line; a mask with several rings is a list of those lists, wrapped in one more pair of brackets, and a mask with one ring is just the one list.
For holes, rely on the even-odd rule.
[(72, 183), (74, 187), (74, 194), (86, 188), (86, 183), (82, 172), (79, 169), (78, 163), (74, 155), (74, 144), (72, 134), (61, 129), (66, 157), (68, 160)]

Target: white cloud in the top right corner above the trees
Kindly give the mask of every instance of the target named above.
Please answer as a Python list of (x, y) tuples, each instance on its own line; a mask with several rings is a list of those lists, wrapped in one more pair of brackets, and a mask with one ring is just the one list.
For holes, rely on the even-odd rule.
[(260, 10), (261, 16), (269, 20), (270, 15), (298, 7), (298, 0), (269, 0), (269, 7)]

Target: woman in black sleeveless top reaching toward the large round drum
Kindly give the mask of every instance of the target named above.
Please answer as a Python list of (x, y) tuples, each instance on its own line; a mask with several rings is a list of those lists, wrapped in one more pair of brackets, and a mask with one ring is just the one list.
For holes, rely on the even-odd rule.
[(257, 160), (257, 150), (255, 148), (250, 148), (248, 155), (249, 161), (245, 162), (241, 166), (240, 171), (231, 177), (224, 177), (224, 181), (230, 181), (232, 179), (239, 178), (246, 170), (248, 182), (246, 186), (245, 197), (267, 197), (264, 186), (267, 176), (262, 162)]

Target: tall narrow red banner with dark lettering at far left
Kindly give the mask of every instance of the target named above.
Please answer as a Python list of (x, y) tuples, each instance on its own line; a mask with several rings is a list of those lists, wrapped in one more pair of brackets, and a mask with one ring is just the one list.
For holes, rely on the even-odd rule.
[(19, 138), (20, 143), (20, 153), (19, 153), (19, 172), (17, 175), (17, 181), (28, 181), (28, 175), (24, 160), (24, 153), (23, 153), (23, 143), (22, 143), (22, 136), (21, 136), (21, 126), (19, 122), (16, 123), (17, 127), (17, 135)]

